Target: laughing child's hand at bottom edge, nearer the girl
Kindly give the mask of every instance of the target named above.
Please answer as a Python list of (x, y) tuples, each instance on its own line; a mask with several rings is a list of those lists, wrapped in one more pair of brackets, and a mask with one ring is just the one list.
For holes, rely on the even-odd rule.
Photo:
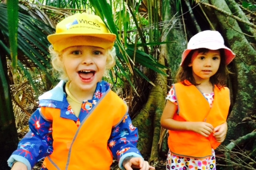
[(123, 162), (123, 166), (126, 170), (133, 170), (132, 168), (138, 168), (140, 170), (154, 170), (153, 166), (150, 166), (147, 161), (144, 161), (140, 157), (132, 157)]

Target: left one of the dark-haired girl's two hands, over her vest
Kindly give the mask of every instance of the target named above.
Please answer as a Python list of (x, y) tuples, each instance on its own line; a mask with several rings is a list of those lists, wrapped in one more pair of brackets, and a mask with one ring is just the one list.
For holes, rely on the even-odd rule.
[(192, 131), (199, 133), (204, 137), (210, 136), (214, 130), (213, 126), (206, 122), (190, 122), (189, 126)]

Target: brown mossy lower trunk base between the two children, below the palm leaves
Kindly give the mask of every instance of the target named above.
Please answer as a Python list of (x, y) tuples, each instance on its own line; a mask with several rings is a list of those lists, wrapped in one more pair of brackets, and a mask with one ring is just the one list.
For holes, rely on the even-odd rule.
[[(163, 81), (164, 79), (160, 82), (165, 84)], [(150, 155), (151, 150), (154, 150), (154, 152), (151, 153), (154, 155), (152, 159), (158, 157), (160, 116), (162, 115), (165, 95), (160, 84), (157, 82), (154, 82), (154, 84), (156, 86), (152, 87), (146, 105), (132, 120), (133, 125), (139, 130), (138, 148), (141, 154), (143, 156), (148, 156)]]

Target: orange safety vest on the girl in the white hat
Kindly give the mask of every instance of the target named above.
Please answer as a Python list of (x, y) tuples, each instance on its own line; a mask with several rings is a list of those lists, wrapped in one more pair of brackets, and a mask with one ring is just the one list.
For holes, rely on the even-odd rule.
[[(194, 85), (174, 84), (178, 111), (173, 119), (176, 121), (205, 121), (215, 128), (226, 122), (230, 106), (230, 92), (227, 87), (214, 87), (212, 108), (204, 95)], [(193, 131), (169, 130), (168, 146), (174, 155), (190, 158), (206, 158), (212, 156), (212, 148), (217, 142), (213, 134), (204, 137)]]

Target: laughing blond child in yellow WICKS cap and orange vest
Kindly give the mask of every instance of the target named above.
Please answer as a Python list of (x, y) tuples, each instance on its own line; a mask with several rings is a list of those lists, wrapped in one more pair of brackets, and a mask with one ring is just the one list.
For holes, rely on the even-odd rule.
[(99, 16), (78, 13), (48, 36), (52, 65), (61, 81), (39, 97), (30, 131), (8, 159), (12, 170), (155, 169), (136, 148), (138, 130), (126, 103), (102, 81), (115, 64), (114, 41)]

